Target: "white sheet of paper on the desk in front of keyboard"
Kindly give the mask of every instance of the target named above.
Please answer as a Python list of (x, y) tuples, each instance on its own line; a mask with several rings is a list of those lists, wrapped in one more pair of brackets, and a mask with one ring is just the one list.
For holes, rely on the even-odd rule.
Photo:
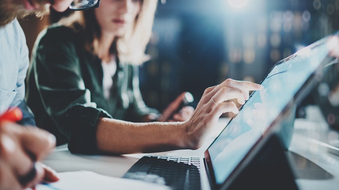
[(117, 177), (108, 177), (92, 171), (58, 173), (60, 180), (46, 185), (37, 185), (37, 190), (114, 190), (114, 189), (157, 189), (168, 190), (168, 186)]

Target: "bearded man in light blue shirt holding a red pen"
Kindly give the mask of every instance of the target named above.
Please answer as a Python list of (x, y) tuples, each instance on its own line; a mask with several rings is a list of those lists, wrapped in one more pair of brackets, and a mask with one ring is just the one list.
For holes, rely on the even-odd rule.
[[(24, 100), (28, 48), (17, 18), (42, 16), (51, 5), (64, 11), (72, 0), (0, 0), (0, 115), (19, 107), (23, 118), (18, 122), (0, 117), (0, 189), (34, 187), (41, 181), (58, 180), (54, 170), (41, 164), (55, 147), (55, 136), (37, 127)], [(20, 112), (21, 113), (21, 112)]]

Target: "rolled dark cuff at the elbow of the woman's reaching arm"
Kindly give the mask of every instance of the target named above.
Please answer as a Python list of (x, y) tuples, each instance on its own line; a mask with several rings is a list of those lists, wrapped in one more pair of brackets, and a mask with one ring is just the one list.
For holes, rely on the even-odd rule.
[(72, 153), (99, 154), (96, 138), (98, 118), (112, 118), (106, 111), (84, 104), (75, 104), (67, 109), (66, 117), (72, 125), (68, 150)]

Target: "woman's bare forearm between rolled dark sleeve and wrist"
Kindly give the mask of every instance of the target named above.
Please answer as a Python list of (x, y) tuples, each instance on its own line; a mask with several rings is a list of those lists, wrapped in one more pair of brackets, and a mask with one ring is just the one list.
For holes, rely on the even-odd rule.
[(97, 145), (100, 151), (129, 154), (185, 149), (184, 122), (132, 123), (99, 118)]

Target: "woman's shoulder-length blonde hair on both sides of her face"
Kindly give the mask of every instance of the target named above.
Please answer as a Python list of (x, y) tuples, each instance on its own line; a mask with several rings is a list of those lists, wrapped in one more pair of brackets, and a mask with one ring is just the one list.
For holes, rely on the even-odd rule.
[[(142, 7), (134, 26), (112, 43), (110, 51), (117, 52), (120, 62), (140, 65), (149, 60), (145, 49), (151, 38), (157, 2), (157, 0), (142, 0)], [(76, 32), (82, 32), (85, 49), (98, 55), (98, 39), (100, 39), (101, 29), (93, 9), (75, 11), (71, 16), (60, 20), (59, 23), (73, 28)]]

